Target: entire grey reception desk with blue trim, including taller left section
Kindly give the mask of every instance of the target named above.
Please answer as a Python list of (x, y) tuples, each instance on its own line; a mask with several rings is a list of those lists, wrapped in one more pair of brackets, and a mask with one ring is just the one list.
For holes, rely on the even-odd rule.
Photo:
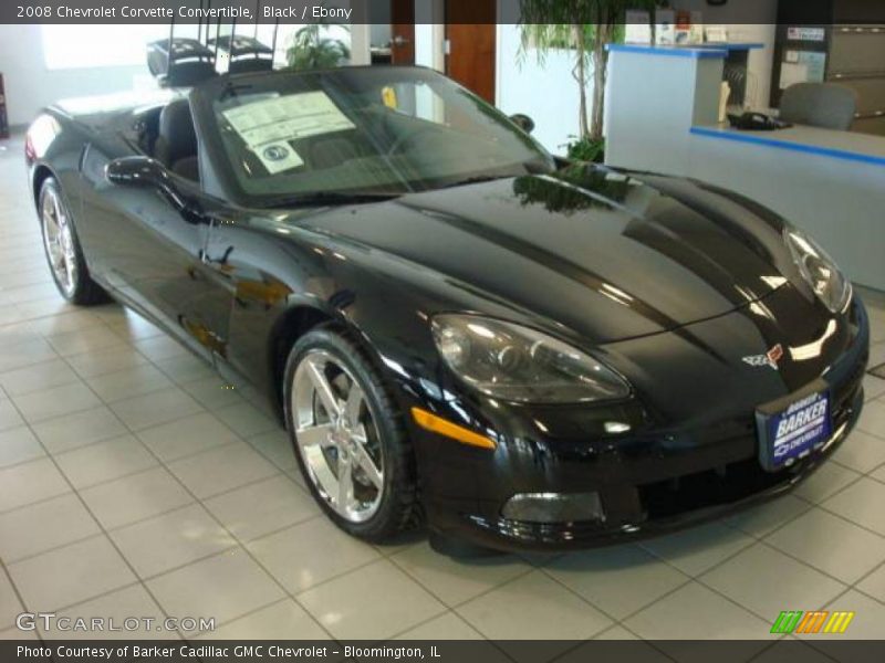
[[(673, 50), (670, 50), (673, 51)], [(735, 190), (808, 230), (853, 281), (885, 291), (885, 137), (717, 122), (725, 55), (610, 53), (606, 162)]]

